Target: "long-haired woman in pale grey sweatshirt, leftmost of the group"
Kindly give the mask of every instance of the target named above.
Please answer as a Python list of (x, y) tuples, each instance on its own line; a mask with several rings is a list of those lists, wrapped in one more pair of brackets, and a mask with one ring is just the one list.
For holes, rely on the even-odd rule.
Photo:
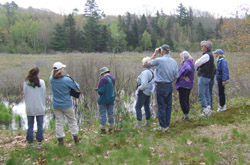
[(45, 115), (46, 86), (44, 80), (40, 79), (38, 67), (29, 70), (28, 76), (23, 83), (24, 102), (28, 119), (28, 130), (26, 140), (33, 147), (34, 119), (37, 122), (37, 148), (41, 149), (43, 140), (43, 119)]

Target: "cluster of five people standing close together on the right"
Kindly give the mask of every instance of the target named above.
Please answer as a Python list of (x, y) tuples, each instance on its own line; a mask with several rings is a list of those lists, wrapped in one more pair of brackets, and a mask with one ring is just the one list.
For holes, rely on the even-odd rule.
[[(175, 88), (179, 92), (179, 102), (184, 113), (181, 121), (188, 121), (190, 111), (189, 97), (193, 88), (195, 70), (198, 72), (198, 96), (203, 108), (200, 116), (211, 115), (212, 89), (215, 75), (220, 103), (217, 112), (226, 110), (225, 85), (229, 80), (229, 70), (224, 52), (222, 49), (217, 49), (212, 53), (212, 43), (210, 41), (202, 41), (201, 50), (202, 56), (196, 61), (188, 51), (183, 51), (180, 54), (181, 67), (179, 71), (177, 62), (169, 54), (169, 45), (164, 44), (160, 48), (156, 48), (151, 57), (143, 58), (143, 69), (137, 78), (137, 101), (135, 105), (137, 124), (135, 128), (150, 125), (151, 111), (149, 100), (152, 93), (156, 91), (159, 127), (154, 129), (161, 131), (169, 129), (172, 112), (173, 82), (175, 82)], [(160, 54), (160, 57), (157, 57), (158, 54)], [(213, 54), (217, 58), (217, 69), (214, 64)], [(152, 67), (155, 67), (154, 71), (151, 69)], [(146, 118), (144, 125), (141, 123), (142, 107), (144, 107)]]

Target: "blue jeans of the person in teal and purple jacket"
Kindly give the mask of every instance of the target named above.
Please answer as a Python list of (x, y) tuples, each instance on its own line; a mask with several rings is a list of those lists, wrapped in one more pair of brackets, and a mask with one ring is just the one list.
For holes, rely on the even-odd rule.
[(99, 104), (99, 113), (101, 117), (101, 125), (105, 125), (107, 122), (107, 115), (108, 115), (108, 122), (109, 124), (114, 123), (114, 102), (109, 104)]

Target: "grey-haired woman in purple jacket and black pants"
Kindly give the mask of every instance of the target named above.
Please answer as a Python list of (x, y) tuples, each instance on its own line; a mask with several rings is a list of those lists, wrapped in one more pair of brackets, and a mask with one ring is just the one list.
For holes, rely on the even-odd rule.
[(194, 59), (187, 51), (183, 51), (181, 54), (182, 65), (179, 72), (179, 77), (176, 81), (175, 88), (179, 91), (179, 101), (181, 109), (184, 113), (182, 121), (189, 120), (189, 95), (193, 88), (194, 81)]

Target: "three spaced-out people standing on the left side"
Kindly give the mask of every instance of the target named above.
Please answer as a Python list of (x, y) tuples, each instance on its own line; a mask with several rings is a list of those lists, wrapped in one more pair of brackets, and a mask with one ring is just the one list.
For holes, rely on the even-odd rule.
[[(66, 65), (61, 62), (55, 62), (49, 78), (52, 90), (52, 106), (55, 115), (56, 138), (59, 145), (64, 145), (64, 118), (67, 119), (69, 131), (71, 132), (75, 144), (79, 143), (78, 125), (73, 110), (71, 90), (79, 91), (80, 87), (70, 75), (65, 75)], [(114, 85), (115, 79), (110, 74), (107, 67), (100, 69), (100, 82), (98, 88), (98, 104), (101, 118), (101, 131), (105, 132), (105, 124), (110, 123), (109, 131), (113, 129), (114, 115), (113, 107), (115, 101)], [(28, 76), (23, 83), (23, 93), (26, 105), (26, 113), (28, 118), (28, 129), (26, 140), (30, 147), (34, 141), (34, 120), (37, 122), (37, 148), (41, 149), (43, 137), (43, 120), (45, 115), (45, 98), (46, 86), (44, 80), (40, 79), (40, 71), (38, 67), (32, 68), (28, 72)]]

